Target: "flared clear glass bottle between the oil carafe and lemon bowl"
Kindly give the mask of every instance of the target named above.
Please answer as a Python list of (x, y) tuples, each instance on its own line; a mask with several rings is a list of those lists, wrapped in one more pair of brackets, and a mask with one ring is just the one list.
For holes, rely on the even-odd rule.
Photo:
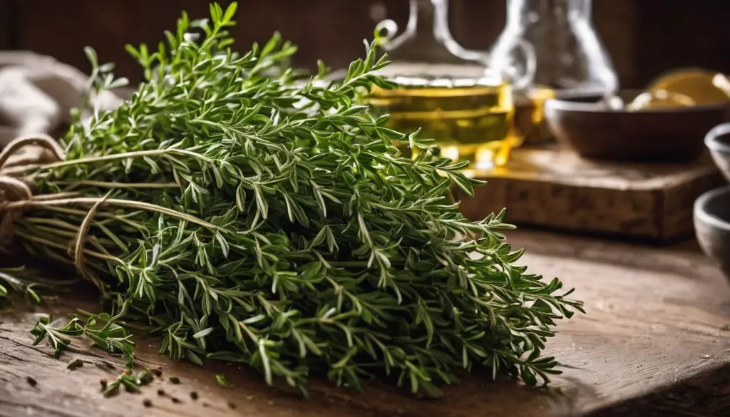
[[(507, 24), (493, 45), (495, 69), (531, 72), (515, 86), (515, 125), (526, 142), (550, 139), (545, 100), (564, 93), (600, 96), (618, 89), (611, 60), (591, 23), (591, 0), (507, 0)], [(533, 50), (525, 54), (525, 47)], [(519, 77), (519, 74), (515, 75)]]

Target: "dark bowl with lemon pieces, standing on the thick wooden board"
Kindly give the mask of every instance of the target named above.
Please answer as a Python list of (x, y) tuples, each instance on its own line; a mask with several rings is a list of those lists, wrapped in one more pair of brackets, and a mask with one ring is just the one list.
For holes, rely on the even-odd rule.
[[(618, 94), (625, 103), (641, 91)], [(555, 137), (585, 158), (614, 161), (688, 161), (702, 153), (704, 135), (730, 120), (730, 105), (656, 110), (610, 110), (600, 96), (566, 96), (545, 103)]]

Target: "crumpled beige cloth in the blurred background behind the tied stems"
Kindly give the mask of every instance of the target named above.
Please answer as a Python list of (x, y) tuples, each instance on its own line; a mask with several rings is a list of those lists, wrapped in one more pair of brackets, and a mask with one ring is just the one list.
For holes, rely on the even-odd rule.
[[(70, 122), (72, 108), (82, 104), (87, 83), (86, 74), (49, 56), (0, 51), (0, 148), (19, 136), (55, 134)], [(111, 92), (92, 99), (93, 105), (102, 110), (112, 109), (121, 101)], [(44, 148), (26, 146), (5, 167), (49, 158)]]

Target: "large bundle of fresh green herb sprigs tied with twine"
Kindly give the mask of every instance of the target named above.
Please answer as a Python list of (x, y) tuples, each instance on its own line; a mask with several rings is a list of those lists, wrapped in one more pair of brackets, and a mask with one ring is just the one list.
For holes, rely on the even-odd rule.
[[(392, 87), (372, 73), (385, 56), (366, 45), (344, 80), (302, 82), (278, 34), (229, 48), (235, 8), (183, 13), (158, 47), (128, 47), (145, 82), (76, 121), (64, 161), (28, 169), (42, 199), (4, 206), (23, 210), (16, 241), (103, 291), (103, 326), (69, 332), (118, 351), (128, 335), (107, 323), (141, 322), (172, 359), (242, 362), (303, 392), (316, 375), (360, 389), (387, 374), (439, 395), (474, 367), (529, 384), (558, 373), (541, 353), (581, 303), (516, 264), (504, 212), (459, 213), (448, 188), (475, 180), (359, 104)], [(109, 69), (95, 65), (97, 90), (122, 84)], [(410, 160), (392, 139), (425, 151)], [(60, 351), (65, 330), (35, 334)]]

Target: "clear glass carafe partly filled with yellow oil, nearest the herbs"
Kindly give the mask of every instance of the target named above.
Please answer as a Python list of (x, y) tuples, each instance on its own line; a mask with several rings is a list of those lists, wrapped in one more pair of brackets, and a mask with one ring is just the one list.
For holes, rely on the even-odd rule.
[(398, 87), (376, 89), (369, 104), (391, 115), (393, 129), (421, 129), (442, 156), (468, 159), (475, 168), (504, 165), (520, 142), (510, 84), (488, 69), (483, 53), (465, 50), (451, 37), (447, 0), (410, 0), (407, 27), (393, 36), (397, 30), (392, 20), (378, 25), (379, 33), (387, 32), (381, 47), (392, 61), (380, 74)]

